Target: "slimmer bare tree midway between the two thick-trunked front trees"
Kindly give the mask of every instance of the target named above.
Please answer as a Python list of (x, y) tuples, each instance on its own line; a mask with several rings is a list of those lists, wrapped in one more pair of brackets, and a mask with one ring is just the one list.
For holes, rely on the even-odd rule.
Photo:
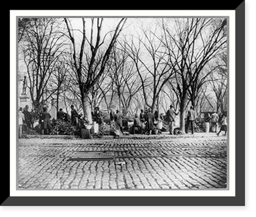
[(133, 37), (131, 42), (125, 41), (124, 46), (135, 63), (146, 106), (158, 110), (160, 92), (174, 70), (169, 66), (168, 54), (162, 46), (162, 36), (156, 34), (157, 29), (151, 31), (142, 28), (141, 31), (142, 36), (137, 40)]

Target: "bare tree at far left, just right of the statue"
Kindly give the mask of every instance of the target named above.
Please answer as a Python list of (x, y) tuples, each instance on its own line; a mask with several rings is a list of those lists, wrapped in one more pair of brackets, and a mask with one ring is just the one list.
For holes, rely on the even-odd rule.
[(32, 18), (27, 20), (23, 37), (20, 38), (20, 48), (23, 48), (20, 54), (24, 56), (29, 78), (28, 88), (35, 109), (43, 99), (48, 100), (51, 97), (51, 94), (46, 96), (47, 85), (55, 63), (65, 50), (65, 40), (61, 32), (60, 20)]

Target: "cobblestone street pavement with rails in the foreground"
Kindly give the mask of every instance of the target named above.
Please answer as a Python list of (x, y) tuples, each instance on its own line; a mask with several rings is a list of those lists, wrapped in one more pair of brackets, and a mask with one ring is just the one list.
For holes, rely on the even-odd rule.
[(19, 139), (17, 189), (226, 188), (227, 137)]

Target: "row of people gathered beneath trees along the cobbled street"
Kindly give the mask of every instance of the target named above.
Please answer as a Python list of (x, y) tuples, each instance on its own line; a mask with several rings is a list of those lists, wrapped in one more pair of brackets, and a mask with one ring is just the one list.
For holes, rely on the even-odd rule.
[[(170, 135), (174, 134), (174, 123), (175, 116), (178, 115), (179, 112), (176, 112), (173, 105), (169, 106), (169, 109), (166, 112), (165, 121), (168, 124), (168, 131)], [(209, 116), (209, 114), (208, 114)], [(52, 124), (50, 121), (51, 115), (47, 112), (47, 107), (42, 107), (42, 113), (39, 116), (39, 123), (41, 124), (41, 133), (49, 134), (52, 128)], [(92, 112), (92, 118), (98, 124), (103, 123), (103, 113), (99, 110), (99, 107), (96, 107), (94, 112)], [(119, 110), (116, 110), (114, 113), (113, 110), (110, 111), (110, 124), (117, 125), (121, 132), (123, 132), (123, 115)], [(23, 109), (19, 108), (18, 112), (18, 124), (19, 124), (19, 133), (18, 137), (21, 138), (23, 131), (27, 131), (28, 128), (32, 127), (33, 121), (35, 119), (35, 113), (33, 110), (29, 112), (29, 106), (26, 105)], [(81, 115), (75, 110), (74, 105), (71, 105), (71, 116), (68, 113), (63, 112), (62, 108), (57, 112), (57, 119), (67, 122), (71, 121), (71, 124), (76, 127), (82, 138), (91, 138), (90, 130), (87, 129), (86, 125), (89, 123), (85, 118), (82, 118)], [(131, 128), (131, 133), (135, 134), (136, 132), (140, 134), (151, 135), (154, 128), (154, 122), (158, 120), (157, 111), (153, 114), (151, 108), (146, 108), (145, 111), (141, 109), (140, 115), (136, 114), (134, 118), (134, 122)], [(191, 134), (195, 132), (195, 120), (196, 120), (196, 112), (194, 111), (194, 107), (190, 106), (190, 110), (187, 112), (185, 117), (185, 133), (188, 133), (188, 128), (191, 128)], [(214, 111), (211, 116), (208, 117), (208, 121), (211, 124), (211, 131), (217, 133), (217, 126), (219, 122), (219, 115)], [(221, 133), (221, 131), (227, 132), (227, 117), (224, 114), (221, 120), (221, 128), (217, 133)]]

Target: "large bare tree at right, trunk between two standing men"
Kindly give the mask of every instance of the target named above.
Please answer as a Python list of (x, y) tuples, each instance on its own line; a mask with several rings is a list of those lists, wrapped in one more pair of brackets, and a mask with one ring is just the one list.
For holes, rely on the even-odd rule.
[[(226, 19), (175, 19), (174, 26), (162, 19), (163, 45), (168, 50), (170, 67), (175, 70), (173, 90), (180, 100), (180, 127), (184, 131), (185, 108), (190, 99), (195, 105), (198, 93), (211, 72), (203, 73), (206, 64), (214, 59), (226, 44), (223, 29)], [(218, 24), (218, 25), (216, 25)]]

